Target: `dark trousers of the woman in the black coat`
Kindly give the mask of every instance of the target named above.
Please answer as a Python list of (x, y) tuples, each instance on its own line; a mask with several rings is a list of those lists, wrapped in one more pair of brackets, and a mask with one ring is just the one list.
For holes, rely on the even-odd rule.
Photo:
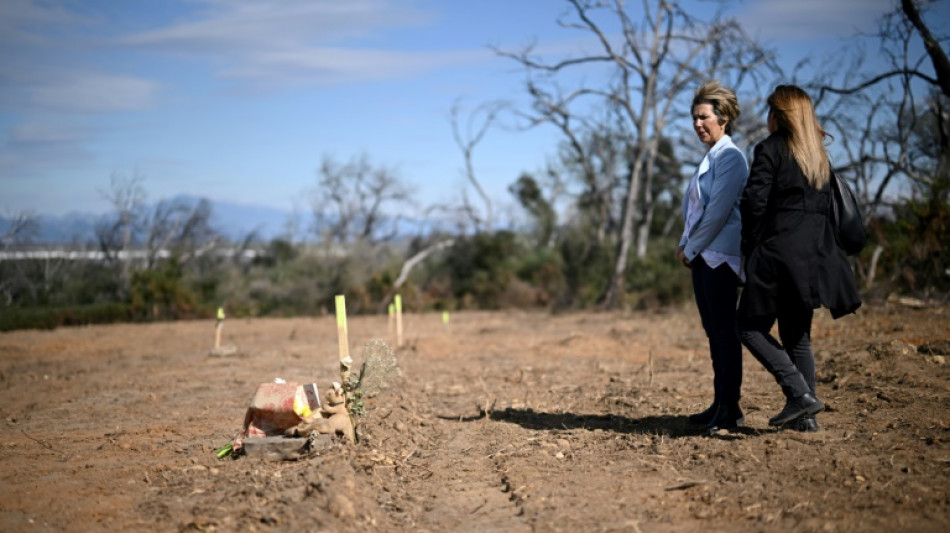
[[(768, 370), (788, 398), (815, 393), (815, 354), (811, 350), (814, 310), (779, 301), (775, 315), (745, 317), (739, 313), (742, 344)], [(778, 320), (779, 344), (769, 333)]]

